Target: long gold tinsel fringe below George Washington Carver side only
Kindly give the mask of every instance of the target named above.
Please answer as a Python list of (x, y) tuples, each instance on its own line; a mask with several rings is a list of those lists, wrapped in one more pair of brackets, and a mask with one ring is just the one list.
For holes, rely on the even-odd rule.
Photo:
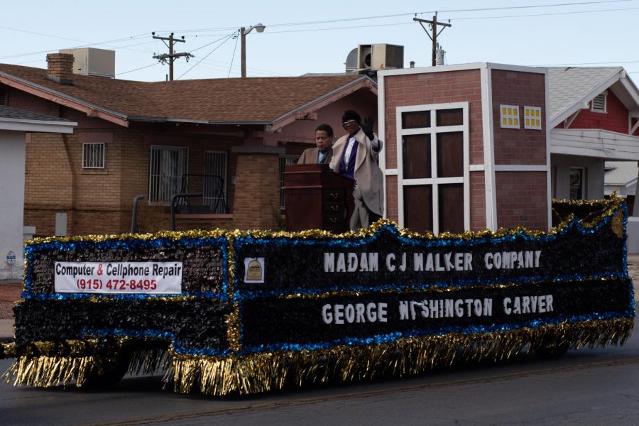
[(278, 352), (251, 356), (175, 356), (165, 380), (176, 392), (194, 386), (207, 395), (260, 393), (291, 384), (371, 380), (408, 376), (464, 362), (505, 361), (521, 351), (578, 349), (623, 344), (632, 319), (563, 323), (484, 334), (411, 337), (369, 346), (338, 346), (322, 351)]

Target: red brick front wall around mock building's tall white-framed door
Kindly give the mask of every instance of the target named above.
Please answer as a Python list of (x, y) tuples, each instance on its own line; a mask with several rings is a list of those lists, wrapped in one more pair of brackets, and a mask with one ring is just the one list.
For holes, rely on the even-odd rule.
[[(386, 121), (386, 168), (397, 168), (397, 121), (396, 108), (420, 104), (447, 104), (469, 102), (469, 146), (470, 164), (484, 164), (484, 126), (481, 116), (480, 70), (430, 72), (384, 77), (384, 119)], [(471, 174), (471, 188), (481, 190), (471, 200), (471, 209), (484, 195), (484, 176)], [(481, 180), (478, 180), (481, 178)], [(398, 220), (397, 178), (386, 178), (386, 217)], [(474, 212), (472, 229), (486, 227), (485, 209)]]

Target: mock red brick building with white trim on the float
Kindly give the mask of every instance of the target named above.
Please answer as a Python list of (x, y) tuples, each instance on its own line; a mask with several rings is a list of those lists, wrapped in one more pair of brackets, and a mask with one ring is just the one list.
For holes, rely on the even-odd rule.
[(545, 68), (378, 74), (386, 216), (415, 231), (550, 226)]

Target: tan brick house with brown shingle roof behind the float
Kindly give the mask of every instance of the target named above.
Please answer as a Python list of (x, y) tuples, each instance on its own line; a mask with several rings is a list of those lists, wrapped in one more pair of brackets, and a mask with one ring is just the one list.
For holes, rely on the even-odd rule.
[[(376, 116), (376, 83), (363, 75), (134, 82), (78, 75), (73, 55), (48, 55), (48, 70), (0, 65), (4, 104), (77, 122), (73, 134), (26, 134), (25, 224), (52, 235), (129, 231), (277, 229), (285, 163), (313, 146), (318, 124), (340, 136), (344, 109)], [(191, 204), (198, 204), (195, 208)], [(191, 208), (193, 207), (193, 208)]]

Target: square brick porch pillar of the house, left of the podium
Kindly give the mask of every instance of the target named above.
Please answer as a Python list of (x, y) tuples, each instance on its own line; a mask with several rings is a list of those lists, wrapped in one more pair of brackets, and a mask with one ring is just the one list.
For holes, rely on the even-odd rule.
[(233, 222), (239, 229), (278, 229), (283, 148), (238, 146)]

